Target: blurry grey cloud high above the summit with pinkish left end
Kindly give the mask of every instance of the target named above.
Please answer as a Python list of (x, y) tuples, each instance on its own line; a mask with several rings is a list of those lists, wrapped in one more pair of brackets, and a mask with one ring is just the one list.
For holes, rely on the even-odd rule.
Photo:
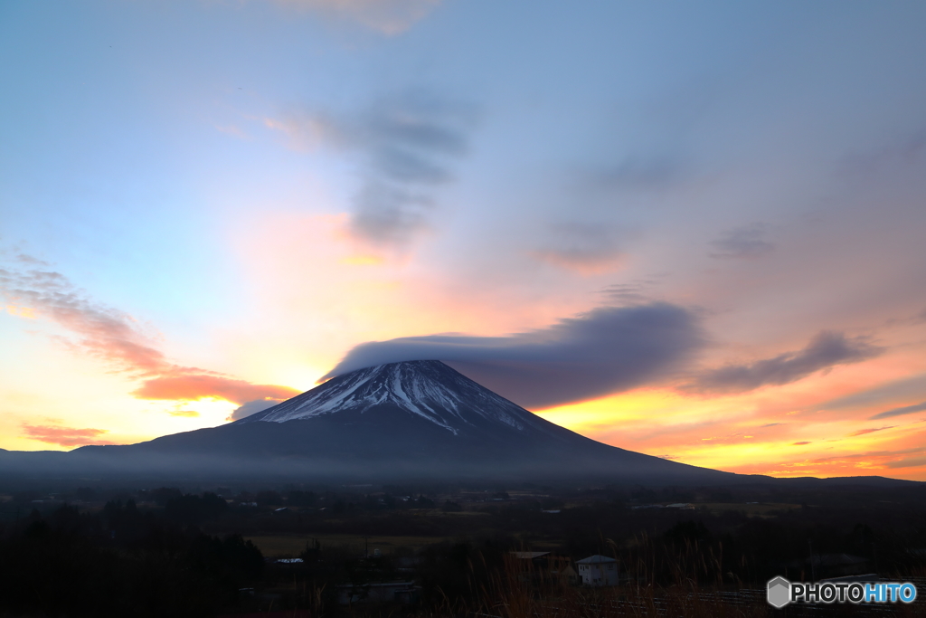
[(357, 154), (362, 183), (351, 230), (373, 245), (401, 248), (428, 229), (428, 211), (438, 204), (439, 187), (455, 179), (478, 117), (475, 107), (414, 91), (355, 115), (301, 111), (266, 124), (299, 148), (327, 145)]

